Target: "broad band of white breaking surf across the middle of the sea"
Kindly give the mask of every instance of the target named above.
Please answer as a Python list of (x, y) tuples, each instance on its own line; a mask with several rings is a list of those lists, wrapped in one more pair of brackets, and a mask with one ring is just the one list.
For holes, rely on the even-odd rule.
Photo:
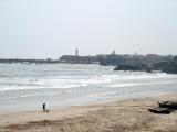
[[(129, 74), (129, 73), (128, 73)], [(70, 76), (71, 77), (71, 76)], [(81, 76), (77, 78), (66, 78), (63, 79), (61, 77), (54, 77), (53, 79), (19, 79), (15, 78), (13, 81), (2, 81), (0, 82), (0, 91), (8, 91), (8, 90), (28, 90), (28, 89), (63, 89), (63, 88), (77, 88), (77, 87), (87, 87), (90, 85), (103, 85), (103, 84), (111, 84), (106, 85), (107, 87), (131, 87), (131, 86), (138, 86), (138, 85), (155, 85), (155, 84), (173, 84), (176, 81), (164, 81), (164, 82), (119, 82), (114, 84), (112, 82), (116, 80), (128, 80), (128, 79), (152, 79), (152, 78), (174, 78), (176, 76), (168, 76), (166, 74), (147, 74), (147, 75), (102, 75), (102, 76), (86, 76), (81, 79)], [(32, 80), (32, 81), (31, 81)]]

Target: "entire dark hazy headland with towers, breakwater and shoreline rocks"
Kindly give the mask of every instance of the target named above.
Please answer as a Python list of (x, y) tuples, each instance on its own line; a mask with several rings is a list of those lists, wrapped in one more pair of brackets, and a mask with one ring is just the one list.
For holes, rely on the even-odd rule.
[(59, 59), (20, 59), (20, 58), (0, 58), (0, 63), (25, 63), (25, 64), (100, 64), (103, 66), (117, 66), (115, 70), (162, 70), (177, 74), (177, 55), (157, 55), (157, 54), (98, 54), (95, 56), (81, 56), (79, 50), (74, 55), (62, 55)]

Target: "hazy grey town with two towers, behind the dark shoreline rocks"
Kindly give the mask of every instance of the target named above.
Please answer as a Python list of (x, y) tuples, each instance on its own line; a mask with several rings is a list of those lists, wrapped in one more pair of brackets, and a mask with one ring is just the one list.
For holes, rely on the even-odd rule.
[(147, 55), (138, 55), (135, 53), (134, 55), (125, 54), (118, 55), (115, 53), (115, 50), (111, 54), (100, 54), (95, 56), (81, 56), (79, 55), (79, 50), (75, 50), (75, 55), (62, 55), (59, 61), (62, 63), (70, 64), (101, 64), (101, 65), (137, 65), (137, 64), (146, 64), (150, 65), (156, 62), (167, 61), (169, 57), (160, 56), (157, 54), (147, 54)]

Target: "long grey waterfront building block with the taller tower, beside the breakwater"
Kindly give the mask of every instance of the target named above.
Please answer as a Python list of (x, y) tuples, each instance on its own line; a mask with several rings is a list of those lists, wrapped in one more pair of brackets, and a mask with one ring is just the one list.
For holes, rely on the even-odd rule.
[(97, 56), (80, 56), (77, 48), (75, 50), (75, 55), (62, 55), (59, 59), (69, 64), (98, 64)]

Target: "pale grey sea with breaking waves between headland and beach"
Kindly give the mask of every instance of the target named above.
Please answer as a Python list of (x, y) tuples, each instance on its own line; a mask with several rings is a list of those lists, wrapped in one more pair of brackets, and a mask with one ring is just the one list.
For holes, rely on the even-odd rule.
[(0, 64), (0, 111), (51, 109), (177, 91), (177, 75), (113, 66)]

